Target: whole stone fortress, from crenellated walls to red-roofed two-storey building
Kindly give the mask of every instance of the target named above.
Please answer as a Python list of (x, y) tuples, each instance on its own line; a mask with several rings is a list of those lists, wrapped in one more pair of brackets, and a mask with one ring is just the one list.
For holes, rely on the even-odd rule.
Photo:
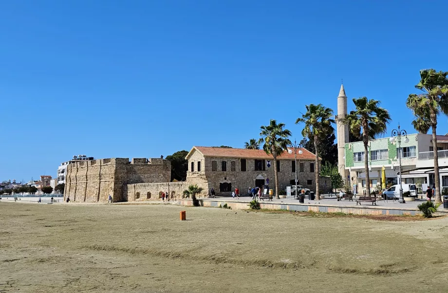
[[(297, 155), (299, 184), (316, 190), (315, 155), (302, 149)], [(242, 195), (249, 187), (269, 185), (274, 188), (272, 156), (263, 150), (193, 147), (188, 153), (187, 181), (170, 182), (171, 163), (161, 158), (109, 158), (74, 161), (67, 167), (64, 200), (73, 202), (113, 202), (159, 200), (162, 192), (170, 199), (182, 198), (189, 185), (203, 188), (206, 196), (213, 188), (217, 195), (230, 196), (235, 188)], [(285, 152), (279, 157), (279, 183), (284, 190), (294, 185), (294, 155)], [(270, 179), (270, 182), (269, 182)], [(330, 187), (330, 180), (321, 177), (321, 189)], [(268, 183), (269, 182), (269, 183)]]

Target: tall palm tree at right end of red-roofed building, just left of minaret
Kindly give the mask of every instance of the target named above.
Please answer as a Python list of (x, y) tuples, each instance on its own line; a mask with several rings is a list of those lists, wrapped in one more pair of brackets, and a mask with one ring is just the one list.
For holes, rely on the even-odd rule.
[[(306, 105), (306, 113), (302, 114), (301, 118), (296, 120), (296, 124), (305, 123), (305, 127), (302, 130), (302, 136), (304, 138), (314, 139), (314, 147), (316, 150), (315, 161), (315, 176), (316, 176), (316, 199), (320, 200), (319, 192), (319, 149), (322, 139), (326, 138), (329, 134), (332, 134), (335, 129), (332, 124), (335, 120), (332, 119), (333, 110), (324, 107), (322, 104), (309, 104)], [(321, 151), (321, 150), (320, 150)]]

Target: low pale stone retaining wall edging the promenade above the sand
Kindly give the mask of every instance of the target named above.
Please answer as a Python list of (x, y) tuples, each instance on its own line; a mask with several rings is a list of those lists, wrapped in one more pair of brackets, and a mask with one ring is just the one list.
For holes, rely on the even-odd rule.
[[(232, 209), (249, 209), (247, 202), (227, 201), (227, 200), (200, 200), (203, 207), (219, 207), (227, 204)], [(175, 203), (180, 206), (192, 206), (193, 203), (189, 199), (181, 199)], [(344, 207), (331, 205), (313, 205), (313, 204), (285, 204), (285, 203), (260, 203), (263, 209), (286, 209), (291, 211), (313, 211), (322, 213), (345, 213), (356, 215), (418, 215), (420, 211), (413, 208), (393, 208), (393, 207)], [(448, 213), (448, 211), (440, 210), (438, 212)]]

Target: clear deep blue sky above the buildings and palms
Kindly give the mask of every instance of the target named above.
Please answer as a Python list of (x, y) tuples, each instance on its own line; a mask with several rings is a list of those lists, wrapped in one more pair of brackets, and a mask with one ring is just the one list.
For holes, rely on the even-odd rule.
[[(1, 1), (0, 181), (73, 155), (243, 147), (307, 103), (367, 96), (409, 133), (419, 70), (448, 70), (447, 1)], [(353, 103), (349, 103), (349, 110)], [(440, 119), (438, 132), (448, 132)]]

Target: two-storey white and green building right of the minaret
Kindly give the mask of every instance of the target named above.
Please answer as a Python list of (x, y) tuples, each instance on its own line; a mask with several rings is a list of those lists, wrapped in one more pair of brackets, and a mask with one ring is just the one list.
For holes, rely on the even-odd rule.
[[(434, 183), (434, 160), (432, 135), (409, 134), (401, 139), (398, 148), (397, 139), (391, 143), (390, 138), (369, 141), (369, 178), (366, 182), (364, 170), (364, 144), (362, 141), (345, 144), (345, 169), (350, 172), (348, 178), (351, 186), (356, 185), (358, 193), (364, 192), (367, 184), (375, 188), (381, 185), (381, 169), (386, 169), (386, 184), (399, 184), (401, 156), (402, 183), (431, 186)], [(437, 153), (439, 155), (440, 187), (448, 187), (448, 136), (437, 136)]]

